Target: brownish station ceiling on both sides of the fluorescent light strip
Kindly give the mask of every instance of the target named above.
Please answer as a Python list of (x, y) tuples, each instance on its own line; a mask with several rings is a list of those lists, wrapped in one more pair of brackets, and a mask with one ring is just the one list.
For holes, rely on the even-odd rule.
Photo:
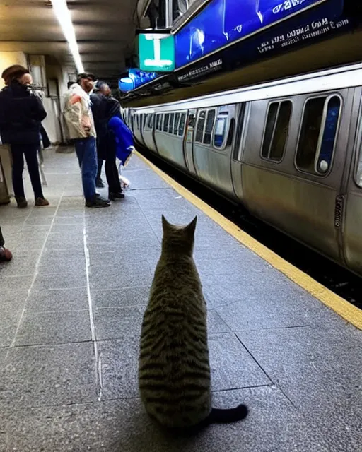
[[(68, 0), (86, 71), (117, 83), (132, 54), (136, 0)], [(51, 54), (74, 66), (48, 0), (0, 0), (0, 51)]]

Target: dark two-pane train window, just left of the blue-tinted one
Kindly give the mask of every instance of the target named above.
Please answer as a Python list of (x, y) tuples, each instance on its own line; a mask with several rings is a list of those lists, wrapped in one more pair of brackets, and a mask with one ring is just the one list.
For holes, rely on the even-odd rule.
[(281, 162), (291, 121), (292, 103), (272, 102), (269, 105), (267, 124), (264, 130), (262, 157)]

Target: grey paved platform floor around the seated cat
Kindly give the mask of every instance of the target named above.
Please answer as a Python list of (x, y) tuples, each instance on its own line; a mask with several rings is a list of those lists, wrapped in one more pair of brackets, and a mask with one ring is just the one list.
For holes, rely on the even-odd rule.
[[(51, 206), (0, 207), (13, 252), (0, 266), (0, 451), (361, 451), (361, 331), (326, 306), (333, 294), (265, 261), (141, 157), (110, 208), (84, 208), (74, 153), (46, 152), (45, 174)], [(137, 388), (162, 214), (178, 224), (198, 216), (214, 405), (250, 410), (193, 436), (162, 432)], [(349, 316), (347, 304), (338, 309)]]

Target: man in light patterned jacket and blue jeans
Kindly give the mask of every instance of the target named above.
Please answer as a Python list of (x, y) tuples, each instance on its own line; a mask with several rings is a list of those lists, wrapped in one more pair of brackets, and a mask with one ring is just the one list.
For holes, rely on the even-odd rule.
[(93, 74), (80, 73), (77, 83), (69, 88), (64, 106), (64, 120), (69, 131), (69, 138), (74, 142), (76, 148), (86, 206), (90, 208), (110, 206), (110, 201), (100, 198), (95, 191), (98, 164), (96, 133), (89, 97), (94, 82)]

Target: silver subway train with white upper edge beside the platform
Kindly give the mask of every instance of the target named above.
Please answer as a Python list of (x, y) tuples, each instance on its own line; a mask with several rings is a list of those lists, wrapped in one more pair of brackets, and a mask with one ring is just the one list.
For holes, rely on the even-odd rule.
[(151, 107), (136, 142), (362, 275), (362, 64)]

